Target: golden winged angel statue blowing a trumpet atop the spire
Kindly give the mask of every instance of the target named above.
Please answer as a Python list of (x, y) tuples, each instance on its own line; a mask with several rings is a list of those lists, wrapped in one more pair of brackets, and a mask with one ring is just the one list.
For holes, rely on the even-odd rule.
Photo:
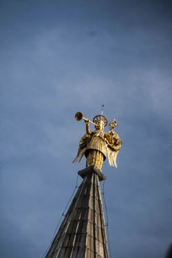
[[(85, 154), (87, 159), (86, 166), (94, 165), (101, 171), (106, 158), (108, 158), (110, 166), (116, 166), (116, 156), (121, 146), (120, 137), (118, 133), (114, 131), (117, 126), (117, 121), (114, 120), (109, 124), (109, 132), (104, 132), (104, 127), (107, 126), (108, 121), (103, 114), (95, 116), (92, 122), (89, 121), (88, 118), (84, 118), (81, 112), (77, 112), (75, 119), (83, 119), (85, 121), (86, 133), (80, 139), (78, 155), (73, 162), (80, 162)], [(94, 124), (95, 131), (90, 130), (90, 122)]]

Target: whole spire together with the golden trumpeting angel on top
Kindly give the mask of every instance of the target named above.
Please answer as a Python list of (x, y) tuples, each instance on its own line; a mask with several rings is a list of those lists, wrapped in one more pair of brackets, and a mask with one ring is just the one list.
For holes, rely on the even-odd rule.
[[(105, 180), (101, 169), (106, 158), (111, 166), (116, 166), (121, 140), (114, 132), (115, 121), (110, 124), (110, 131), (104, 132), (108, 120), (103, 111), (101, 115), (94, 116), (93, 122), (81, 112), (76, 113), (75, 119), (85, 121), (86, 133), (80, 139), (73, 162), (80, 162), (85, 155), (86, 169), (78, 172), (83, 182), (45, 258), (109, 258), (99, 182)], [(90, 122), (94, 124), (95, 131), (90, 130)]]

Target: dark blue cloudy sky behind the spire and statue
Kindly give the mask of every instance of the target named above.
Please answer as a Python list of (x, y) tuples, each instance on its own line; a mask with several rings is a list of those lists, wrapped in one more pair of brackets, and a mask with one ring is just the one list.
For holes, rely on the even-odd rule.
[[(1, 1), (1, 257), (41, 258), (85, 160), (84, 122), (118, 120), (112, 258), (172, 241), (171, 1)], [(108, 130), (108, 129), (106, 129)]]

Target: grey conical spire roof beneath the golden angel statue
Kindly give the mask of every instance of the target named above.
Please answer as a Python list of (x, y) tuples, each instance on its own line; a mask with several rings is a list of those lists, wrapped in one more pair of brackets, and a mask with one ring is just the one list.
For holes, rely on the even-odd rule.
[(105, 219), (96, 166), (78, 174), (83, 178), (45, 258), (108, 258)]

